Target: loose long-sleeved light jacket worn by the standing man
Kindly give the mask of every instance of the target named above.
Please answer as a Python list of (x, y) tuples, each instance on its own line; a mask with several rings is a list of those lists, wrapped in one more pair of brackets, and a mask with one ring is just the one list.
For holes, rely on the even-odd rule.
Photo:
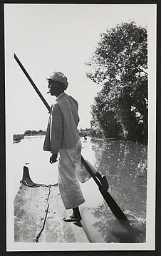
[(61, 148), (73, 148), (79, 139), (78, 123), (78, 102), (61, 93), (51, 107), (43, 150), (56, 154)]

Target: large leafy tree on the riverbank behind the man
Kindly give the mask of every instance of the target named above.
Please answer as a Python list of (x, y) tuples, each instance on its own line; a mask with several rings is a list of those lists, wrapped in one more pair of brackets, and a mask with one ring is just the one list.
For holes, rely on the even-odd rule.
[(92, 106), (94, 128), (106, 138), (147, 140), (147, 30), (122, 23), (100, 34), (87, 63), (88, 78), (102, 84)]

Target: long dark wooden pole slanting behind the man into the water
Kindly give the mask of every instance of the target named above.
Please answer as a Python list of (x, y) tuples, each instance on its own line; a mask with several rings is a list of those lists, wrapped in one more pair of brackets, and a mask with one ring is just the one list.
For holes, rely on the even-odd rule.
[[(28, 75), (26, 69), (24, 68), (24, 66), (22, 65), (21, 61), (19, 61), (19, 58), (16, 56), (16, 54), (14, 53), (14, 58), (16, 60), (16, 62), (19, 64), (21, 70), (24, 72), (24, 74), (26, 75), (26, 77), (28, 78), (28, 80), (30, 81), (31, 85), (33, 86), (33, 88), (35, 89), (36, 93), (38, 93), (38, 96), (41, 98), (41, 101), (43, 101), (43, 103), (45, 104), (46, 108), (48, 108), (48, 111), (50, 112), (51, 108), (48, 105), (48, 103), (46, 102), (45, 98), (43, 98), (41, 92), (38, 90), (37, 86), (35, 83), (33, 83), (33, 80), (31, 79), (31, 77)], [(100, 180), (98, 180), (97, 177), (95, 177), (95, 174), (93, 173), (93, 170), (90, 168), (90, 166), (88, 165), (88, 163), (85, 161), (85, 159), (83, 158), (83, 156), (81, 155), (81, 161), (83, 163), (83, 165), (85, 166), (86, 170), (88, 170), (88, 173), (90, 173), (90, 175), (92, 176), (93, 180), (95, 180), (95, 183), (98, 185), (98, 188), (100, 190), (100, 193), (103, 195), (103, 198), (105, 199), (105, 202), (108, 203), (108, 206), (110, 208), (110, 210), (113, 212), (113, 215), (115, 215), (116, 218), (120, 219), (120, 220), (128, 220), (128, 218), (125, 216), (125, 214), (123, 213), (123, 211), (120, 209), (120, 207), (117, 205), (117, 203), (115, 202), (115, 200), (112, 198), (112, 196), (110, 195), (110, 193), (108, 193), (108, 191), (103, 191), (102, 189), (102, 184), (100, 183)]]

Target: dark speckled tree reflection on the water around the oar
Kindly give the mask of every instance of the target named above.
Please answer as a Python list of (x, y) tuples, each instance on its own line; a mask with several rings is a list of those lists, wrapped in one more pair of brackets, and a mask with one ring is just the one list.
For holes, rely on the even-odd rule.
[(92, 143), (92, 149), (95, 167), (108, 178), (108, 192), (127, 215), (133, 231), (126, 235), (127, 230), (113, 217), (105, 201), (93, 208), (98, 220), (95, 228), (106, 242), (145, 242), (147, 145), (99, 140)]

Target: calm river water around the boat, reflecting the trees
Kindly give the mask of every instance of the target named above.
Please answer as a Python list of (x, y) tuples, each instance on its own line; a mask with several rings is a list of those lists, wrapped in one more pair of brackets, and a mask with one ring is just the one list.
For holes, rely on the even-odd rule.
[[(51, 153), (43, 151), (44, 136), (24, 138), (14, 143), (12, 166), (14, 172), (14, 196), (19, 190), (23, 166), (27, 164), (34, 183), (58, 182), (58, 164), (51, 165)], [(81, 138), (82, 155), (98, 172), (105, 175), (110, 185), (109, 193), (123, 212), (140, 230), (137, 242), (145, 242), (147, 198), (147, 145), (119, 140), (87, 140)], [(85, 204), (93, 209), (95, 230), (100, 230), (107, 242), (108, 227), (113, 224), (113, 213), (103, 200), (93, 179), (81, 184)], [(109, 220), (111, 223), (109, 224)], [(111, 241), (109, 241), (111, 242)], [(115, 242), (115, 240), (114, 240)]]

